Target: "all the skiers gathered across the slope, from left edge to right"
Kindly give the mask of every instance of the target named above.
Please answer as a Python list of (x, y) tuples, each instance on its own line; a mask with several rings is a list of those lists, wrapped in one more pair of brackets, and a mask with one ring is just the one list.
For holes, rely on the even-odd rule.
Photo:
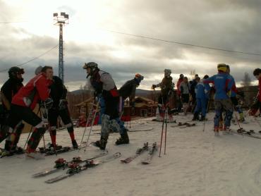
[[(128, 130), (121, 121), (124, 100), (129, 98), (130, 106), (135, 106), (135, 90), (144, 77), (137, 73), (133, 80), (128, 80), (117, 90), (111, 75), (100, 70), (97, 63), (84, 63), (83, 69), (86, 70), (87, 78), (90, 77), (90, 85), (95, 90), (95, 100), (100, 105), (102, 131), (100, 140), (97, 140), (95, 145), (100, 149), (106, 149), (111, 130), (120, 134), (119, 139), (115, 142), (116, 145), (128, 144)], [(205, 121), (210, 92), (214, 90), (215, 135), (219, 135), (219, 130), (229, 133), (233, 111), (238, 111), (239, 121), (244, 121), (243, 111), (238, 104), (238, 96), (242, 96), (242, 94), (236, 89), (236, 82), (230, 74), (229, 65), (219, 63), (217, 71), (216, 75), (212, 77), (205, 75), (202, 79), (195, 75), (195, 79), (190, 82), (187, 77), (181, 74), (177, 82), (178, 98), (182, 103), (184, 114), (186, 115), (189, 105), (195, 108), (193, 109), (193, 121)], [(53, 69), (50, 66), (38, 67), (35, 70), (35, 77), (25, 86), (23, 86), (23, 68), (12, 67), (8, 74), (9, 79), (1, 87), (2, 107), (0, 112), (0, 142), (6, 140), (5, 151), (23, 152), (23, 149), (17, 146), (24, 127), (23, 121), (34, 128), (25, 150), (27, 157), (39, 156), (36, 149), (47, 129), (50, 133), (52, 147), (58, 149), (56, 123), (59, 116), (68, 130), (73, 148), (77, 149), (78, 143), (75, 140), (73, 123), (66, 102), (67, 90), (62, 80), (53, 75)], [(261, 69), (255, 69), (253, 75), (259, 80), (261, 90)], [(161, 89), (158, 99), (161, 120), (169, 116), (169, 121), (173, 121), (173, 109), (170, 104), (171, 98), (174, 96), (174, 82), (172, 80), (171, 70), (165, 69), (162, 82), (152, 85), (152, 89), (156, 87)], [(210, 87), (210, 83), (212, 83), (212, 87)], [(260, 106), (261, 94), (259, 93), (257, 97)], [(35, 113), (33, 110), (37, 104), (39, 104), (39, 110)], [(222, 123), (223, 113), (225, 114), (224, 125)]]

